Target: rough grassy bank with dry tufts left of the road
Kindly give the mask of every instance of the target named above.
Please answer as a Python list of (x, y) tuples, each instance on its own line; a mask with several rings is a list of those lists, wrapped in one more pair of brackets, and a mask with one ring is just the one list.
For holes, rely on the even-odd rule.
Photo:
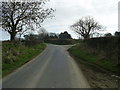
[(19, 44), (3, 43), (2, 76), (6, 76), (26, 62), (32, 60), (44, 49), (45, 44), (25, 47)]

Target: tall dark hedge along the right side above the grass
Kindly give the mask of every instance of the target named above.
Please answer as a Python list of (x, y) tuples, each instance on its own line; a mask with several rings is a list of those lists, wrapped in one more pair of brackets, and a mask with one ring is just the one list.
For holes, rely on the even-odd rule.
[(120, 37), (100, 37), (83, 40), (84, 47), (94, 49), (104, 58), (120, 65)]

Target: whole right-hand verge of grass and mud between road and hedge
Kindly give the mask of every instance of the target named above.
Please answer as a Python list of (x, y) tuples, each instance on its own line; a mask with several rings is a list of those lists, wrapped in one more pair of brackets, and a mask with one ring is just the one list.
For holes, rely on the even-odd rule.
[(118, 88), (120, 86), (120, 77), (118, 75), (93, 63), (92, 60), (95, 60), (93, 56), (91, 59), (91, 55), (83, 52), (78, 45), (68, 51), (79, 65), (92, 88)]

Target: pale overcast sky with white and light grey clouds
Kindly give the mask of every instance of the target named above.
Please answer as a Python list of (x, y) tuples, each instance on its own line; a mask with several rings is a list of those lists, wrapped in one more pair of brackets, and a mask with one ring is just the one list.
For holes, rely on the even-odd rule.
[[(118, 1), (119, 0), (50, 0), (47, 6), (56, 9), (52, 19), (42, 24), (48, 32), (60, 33), (68, 31), (73, 38), (77, 35), (70, 29), (80, 18), (92, 16), (106, 27), (104, 33), (114, 33), (118, 30)], [(9, 35), (3, 33), (2, 38)]]

